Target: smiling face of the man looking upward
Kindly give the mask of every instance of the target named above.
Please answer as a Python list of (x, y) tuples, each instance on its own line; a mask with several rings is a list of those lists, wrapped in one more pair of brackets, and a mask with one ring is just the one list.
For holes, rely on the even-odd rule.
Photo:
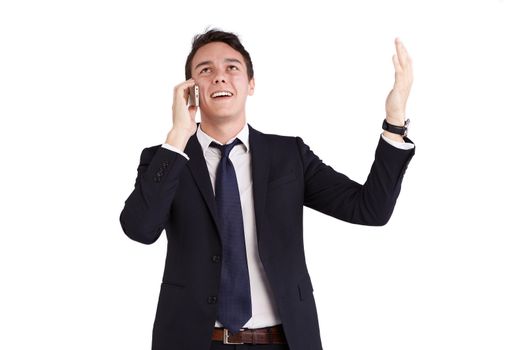
[(246, 119), (246, 98), (253, 95), (242, 55), (223, 42), (197, 50), (191, 64), (192, 78), (200, 89), (199, 108), (204, 120), (214, 122)]

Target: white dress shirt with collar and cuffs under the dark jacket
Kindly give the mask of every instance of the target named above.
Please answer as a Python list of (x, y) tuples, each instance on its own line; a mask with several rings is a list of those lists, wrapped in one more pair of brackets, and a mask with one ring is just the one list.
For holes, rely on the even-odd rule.
[[(257, 231), (255, 228), (255, 211), (253, 203), (253, 182), (251, 171), (251, 153), (249, 143), (248, 124), (239, 132), (237, 136), (229, 140), (226, 144), (238, 138), (242, 145), (235, 146), (230, 152), (230, 160), (235, 168), (235, 175), (239, 186), (241, 198), (242, 219), (244, 224), (244, 239), (246, 242), (246, 258), (248, 260), (248, 272), (250, 274), (250, 293), (252, 298), (252, 318), (244, 325), (244, 328), (262, 328), (280, 324), (281, 320), (277, 313), (274, 296), (270, 284), (264, 272), (264, 268), (259, 257), (257, 245)], [(197, 139), (202, 147), (204, 159), (208, 166), (208, 173), (215, 193), (215, 173), (221, 159), (221, 151), (210, 147), (211, 142), (222, 144), (211, 136), (204, 133), (200, 125), (197, 128)], [(394, 147), (400, 149), (411, 149), (412, 143), (402, 143), (390, 140), (383, 136), (383, 139)], [(189, 159), (186, 153), (169, 144), (162, 147), (177, 152)], [(216, 327), (222, 327), (219, 321), (215, 322)]]

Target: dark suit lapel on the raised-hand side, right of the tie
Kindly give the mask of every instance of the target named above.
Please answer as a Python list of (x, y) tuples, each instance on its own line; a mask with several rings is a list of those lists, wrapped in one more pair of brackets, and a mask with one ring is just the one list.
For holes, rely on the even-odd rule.
[(264, 135), (251, 126), (249, 128), (255, 225), (257, 227), (257, 241), (260, 241), (260, 236), (264, 233), (264, 208), (266, 206), (266, 190), (270, 171), (270, 152)]

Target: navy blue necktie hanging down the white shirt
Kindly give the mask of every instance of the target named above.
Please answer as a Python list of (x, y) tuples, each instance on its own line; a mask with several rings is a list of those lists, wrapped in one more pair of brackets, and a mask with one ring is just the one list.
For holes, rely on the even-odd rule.
[(250, 277), (246, 261), (246, 244), (242, 221), (241, 200), (235, 169), (229, 158), (236, 145), (215, 142), (211, 146), (221, 150), (221, 160), (215, 177), (215, 201), (220, 221), (222, 242), (222, 270), (217, 319), (232, 333), (237, 333), (252, 317)]

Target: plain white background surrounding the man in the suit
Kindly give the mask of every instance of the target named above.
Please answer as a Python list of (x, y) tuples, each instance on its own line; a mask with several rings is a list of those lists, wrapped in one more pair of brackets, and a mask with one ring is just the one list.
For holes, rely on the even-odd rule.
[(385, 227), (305, 210), (325, 349), (524, 349), (521, 1), (3, 1), (0, 348), (148, 349), (165, 236), (118, 217), (194, 34), (240, 34), (249, 122), (363, 182), (393, 83), (417, 145)]

